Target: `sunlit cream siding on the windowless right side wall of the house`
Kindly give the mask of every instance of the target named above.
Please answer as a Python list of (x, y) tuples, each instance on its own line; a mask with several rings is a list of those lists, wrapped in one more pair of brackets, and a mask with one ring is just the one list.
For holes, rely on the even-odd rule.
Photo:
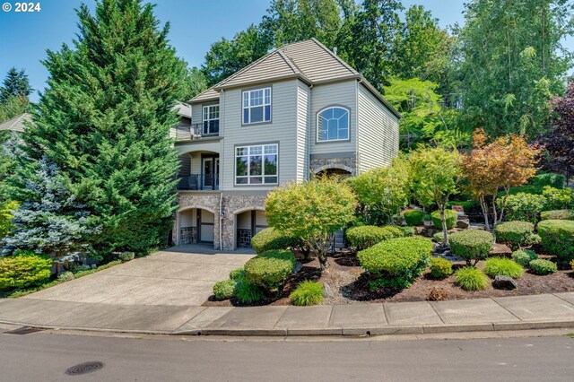
[(398, 152), (398, 118), (359, 84), (359, 172), (390, 164)]

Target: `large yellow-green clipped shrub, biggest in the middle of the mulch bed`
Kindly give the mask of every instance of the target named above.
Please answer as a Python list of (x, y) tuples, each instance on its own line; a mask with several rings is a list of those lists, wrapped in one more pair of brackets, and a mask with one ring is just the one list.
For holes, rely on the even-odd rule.
[(357, 257), (376, 279), (371, 286), (406, 288), (429, 265), (431, 250), (429, 239), (396, 238), (362, 250)]

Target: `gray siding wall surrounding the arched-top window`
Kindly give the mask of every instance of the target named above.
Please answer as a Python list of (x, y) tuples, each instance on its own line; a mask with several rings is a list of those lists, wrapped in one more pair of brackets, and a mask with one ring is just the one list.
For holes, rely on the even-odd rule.
[[(309, 116), (311, 123), (309, 151), (311, 154), (355, 151), (356, 98), (357, 82), (355, 80), (317, 85), (311, 89), (311, 114)], [(349, 137), (351, 138), (349, 141), (317, 143), (317, 113), (328, 106), (343, 106), (349, 109)]]

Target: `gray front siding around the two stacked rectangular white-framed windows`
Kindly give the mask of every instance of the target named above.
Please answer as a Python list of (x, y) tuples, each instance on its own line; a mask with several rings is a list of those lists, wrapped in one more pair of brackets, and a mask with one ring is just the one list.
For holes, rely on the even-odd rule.
[[(224, 92), (225, 137), (222, 152), (222, 189), (268, 190), (276, 185), (235, 186), (235, 147), (279, 143), (279, 184), (297, 178), (297, 81), (274, 82), (271, 96), (271, 122), (242, 126), (242, 89)], [(257, 88), (268, 87), (261, 84)], [(248, 89), (256, 89), (249, 87)], [(220, 115), (221, 116), (221, 115)]]

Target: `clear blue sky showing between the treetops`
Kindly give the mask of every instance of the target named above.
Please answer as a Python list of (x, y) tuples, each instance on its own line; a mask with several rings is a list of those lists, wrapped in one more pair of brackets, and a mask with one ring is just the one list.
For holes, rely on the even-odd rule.
[[(0, 3), (15, 0), (2, 0)], [(80, 0), (36, 0), (41, 11), (15, 13), (0, 11), (0, 78), (12, 66), (26, 69), (30, 83), (43, 90), (48, 71), (40, 64), (46, 49), (57, 50), (70, 44), (77, 32), (74, 8)], [(85, 0), (93, 9), (95, 1)], [(210, 45), (222, 37), (231, 38), (251, 23), (258, 23), (269, 0), (155, 0), (156, 14), (161, 22), (170, 22), (170, 41), (189, 65), (199, 66)], [(405, 7), (422, 4), (430, 9), (445, 27), (462, 23), (464, 0), (403, 0)], [(216, 21), (214, 21), (216, 20)], [(574, 40), (567, 41), (574, 49)], [(36, 94), (31, 97), (38, 100)]]

